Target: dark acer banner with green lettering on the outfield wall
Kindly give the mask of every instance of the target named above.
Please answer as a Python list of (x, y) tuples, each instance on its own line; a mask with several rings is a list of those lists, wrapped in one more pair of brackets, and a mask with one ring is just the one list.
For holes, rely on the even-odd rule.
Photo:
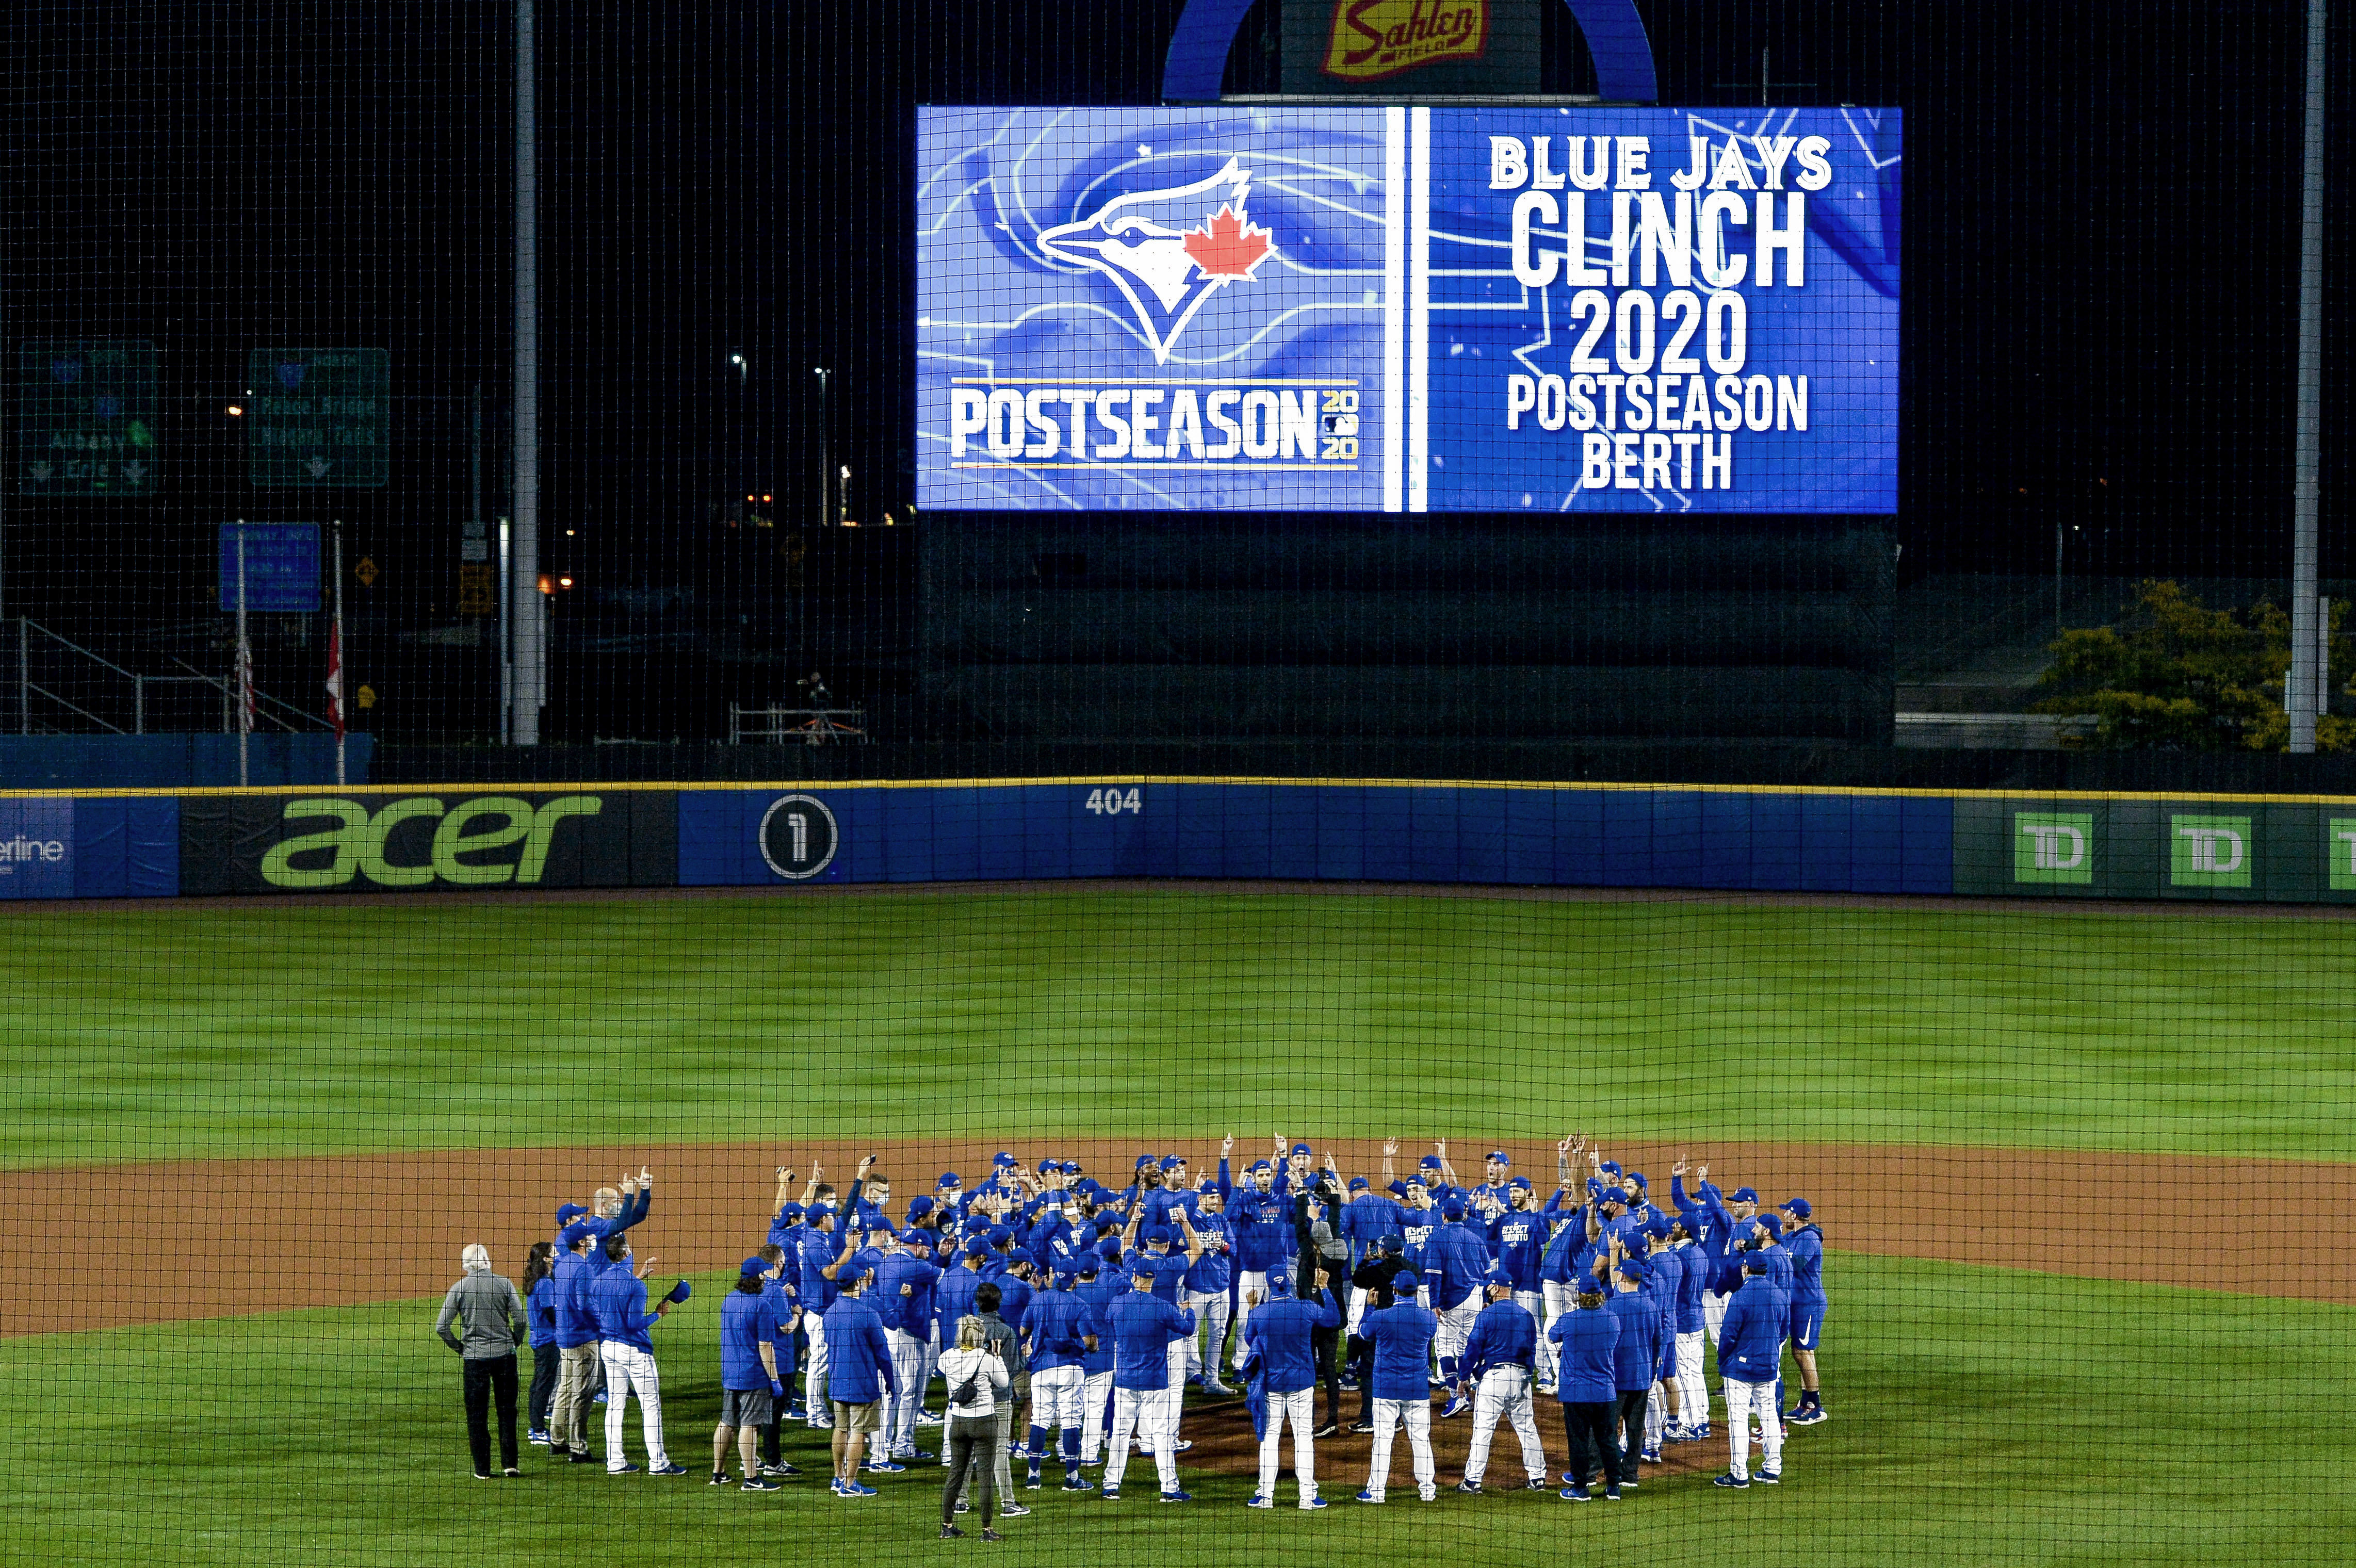
[(671, 791), (318, 791), (181, 805), (181, 892), (669, 888)]

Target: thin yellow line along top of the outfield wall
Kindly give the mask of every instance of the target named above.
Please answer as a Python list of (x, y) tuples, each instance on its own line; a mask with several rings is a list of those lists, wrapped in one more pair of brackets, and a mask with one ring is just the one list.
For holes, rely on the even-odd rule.
[(1020, 779), (695, 779), (695, 782), (483, 782), (483, 784), (254, 784), (247, 789), (0, 789), (0, 800), (170, 800), (233, 796), (450, 796), (450, 793), (631, 793), (631, 791), (841, 791), (841, 789), (1025, 789), (1084, 784), (1246, 784), (1322, 789), (1520, 789), (1520, 791), (1670, 791), (1701, 796), (1873, 796), (1915, 800), (2245, 800), (2257, 805), (2356, 805), (2356, 796), (2269, 796), (2262, 791), (2168, 789), (1892, 789), (1871, 784), (1619, 784), (1588, 779), (1293, 779), (1258, 775), (1048, 775)]

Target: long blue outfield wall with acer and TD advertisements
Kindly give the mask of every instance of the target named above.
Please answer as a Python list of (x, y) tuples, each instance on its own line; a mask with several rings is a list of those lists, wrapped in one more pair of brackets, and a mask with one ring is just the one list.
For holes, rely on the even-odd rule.
[(1390, 779), (0, 796), (0, 897), (1055, 878), (2356, 902), (2356, 798)]

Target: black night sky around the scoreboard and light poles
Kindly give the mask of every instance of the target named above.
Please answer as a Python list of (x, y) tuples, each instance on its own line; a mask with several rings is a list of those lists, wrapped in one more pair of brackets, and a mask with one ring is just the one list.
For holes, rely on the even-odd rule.
[[(836, 372), (853, 516), (898, 511), (912, 106), (1150, 104), (1178, 9), (547, 0), (551, 560), (660, 584), (719, 570), (681, 539), (730, 497), (815, 513), (813, 365)], [(2057, 518), (2099, 542), (2090, 570), (2285, 570), (2304, 5), (1642, 9), (1666, 104), (1755, 104), (1772, 47), (1776, 80), (1812, 82), (1781, 104), (1906, 108), (1908, 572), (2043, 570)], [(2351, 31), (2332, 47), (2335, 170)], [(1230, 87), (1265, 75), (1256, 35)], [(1548, 82), (1586, 85), (1576, 33), (1550, 38)], [(7, 12), (0, 49), (0, 334), (153, 339), (170, 473), (151, 501), (12, 494), (0, 607), (188, 600), (191, 542), (226, 516), (455, 539), (471, 388), (495, 438), (507, 405), (511, 7), (40, 5)], [(2328, 210), (2325, 574), (2342, 574), (2344, 179)], [(262, 344), (391, 348), (393, 485), (243, 485), (219, 410)], [(419, 603), (448, 598), (445, 577), (419, 565)]]

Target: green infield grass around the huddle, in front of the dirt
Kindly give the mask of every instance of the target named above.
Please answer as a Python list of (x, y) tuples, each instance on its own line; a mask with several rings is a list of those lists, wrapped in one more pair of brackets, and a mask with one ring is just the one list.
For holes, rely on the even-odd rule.
[[(2342, 1563), (2330, 1368), (2356, 1309), (1835, 1257), (1824, 1366), (1835, 1420), (1793, 1431), (1786, 1486), (1652, 1481), (1626, 1504), (1494, 1493), (1253, 1511), (1242, 1479), (1190, 1471), (1197, 1502), (1025, 1495), (1008, 1563), (1553, 1563), (1694, 1568), (1882, 1563)], [(608, 1479), (525, 1450), (525, 1479), (466, 1469), (455, 1358), (436, 1302), (0, 1342), (12, 1561), (728, 1563), (931, 1559), (938, 1471), (846, 1504), (796, 1481), (704, 1486), (719, 1408), (721, 1281), (657, 1330), (667, 1436), (693, 1474)], [(525, 1361), (528, 1366), (528, 1361)], [(2323, 1380), (2323, 1382), (2318, 1382)], [(1713, 1380), (1715, 1387), (1715, 1380)], [(935, 1391), (938, 1406), (938, 1391)], [(1548, 1460), (1562, 1429), (1546, 1403)], [(1190, 1415), (1194, 1436), (1199, 1422)], [(603, 1436), (598, 1436), (603, 1448)], [(631, 1457), (638, 1457), (631, 1413)], [(822, 1476), (815, 1434), (789, 1455)], [(1494, 1474), (1517, 1474), (1513, 1443)], [(1713, 1462), (1722, 1448), (1710, 1446)], [(1145, 1471), (1150, 1476), (1150, 1469)], [(1454, 1483), (1454, 1471), (1444, 1481)], [(1402, 1502), (1404, 1493), (1404, 1502)], [(1289, 1490), (1286, 1490), (1289, 1495)], [(1670, 1549), (1670, 1556), (1659, 1556)], [(961, 1552), (978, 1552), (966, 1542)], [(589, 1559), (584, 1559), (589, 1554)]]

